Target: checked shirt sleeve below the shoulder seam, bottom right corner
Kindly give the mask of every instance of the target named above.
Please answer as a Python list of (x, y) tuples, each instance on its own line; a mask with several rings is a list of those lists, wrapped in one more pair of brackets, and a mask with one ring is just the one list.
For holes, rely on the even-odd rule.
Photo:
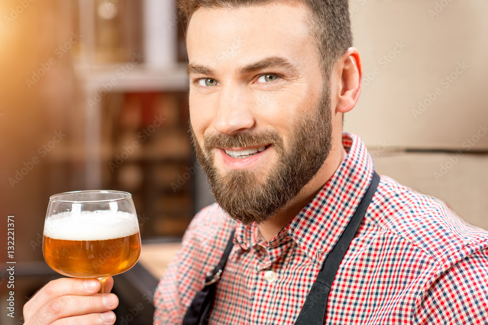
[(415, 325), (488, 324), (488, 251), (477, 251), (429, 282)]

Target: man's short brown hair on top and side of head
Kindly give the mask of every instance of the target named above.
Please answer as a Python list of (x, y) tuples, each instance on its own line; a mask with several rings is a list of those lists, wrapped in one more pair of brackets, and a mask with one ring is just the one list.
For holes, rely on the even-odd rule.
[[(285, 1), (285, 0), (281, 0)], [(186, 19), (198, 8), (242, 8), (259, 6), (280, 0), (179, 0), (178, 7)], [(324, 76), (329, 76), (334, 64), (352, 46), (351, 23), (347, 0), (286, 0), (305, 5), (312, 17), (307, 21), (317, 43)]]

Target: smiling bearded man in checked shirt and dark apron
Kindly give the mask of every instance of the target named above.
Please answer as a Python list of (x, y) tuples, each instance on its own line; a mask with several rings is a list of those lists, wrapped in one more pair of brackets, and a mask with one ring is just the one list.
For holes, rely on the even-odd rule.
[[(488, 323), (487, 232), (388, 177), (378, 184), (361, 139), (342, 134), (362, 77), (347, 1), (181, 7), (193, 142), (218, 205), (187, 229), (155, 324)], [(99, 287), (51, 282), (26, 324), (113, 324), (117, 299)]]

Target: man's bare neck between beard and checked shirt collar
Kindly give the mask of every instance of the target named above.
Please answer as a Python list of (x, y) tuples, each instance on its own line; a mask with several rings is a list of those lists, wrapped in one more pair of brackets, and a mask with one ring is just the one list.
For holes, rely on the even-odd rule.
[(269, 242), (275, 237), (281, 229), (283, 229), (305, 206), (310, 202), (317, 193), (322, 190), (325, 183), (334, 175), (347, 153), (342, 145), (342, 137), (339, 137), (340, 144), (333, 146), (324, 165), (315, 177), (303, 188), (303, 190), (281, 211), (279, 211), (273, 218), (260, 224), (259, 231), (264, 237), (264, 240)]

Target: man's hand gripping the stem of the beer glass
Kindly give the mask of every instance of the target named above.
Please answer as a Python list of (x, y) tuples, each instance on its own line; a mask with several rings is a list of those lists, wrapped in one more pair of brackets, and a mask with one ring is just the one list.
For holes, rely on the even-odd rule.
[[(112, 290), (107, 278), (104, 292)], [(106, 325), (115, 323), (112, 309), (119, 305), (113, 293), (98, 293), (96, 279), (61, 278), (42, 287), (23, 308), (24, 325)]]

